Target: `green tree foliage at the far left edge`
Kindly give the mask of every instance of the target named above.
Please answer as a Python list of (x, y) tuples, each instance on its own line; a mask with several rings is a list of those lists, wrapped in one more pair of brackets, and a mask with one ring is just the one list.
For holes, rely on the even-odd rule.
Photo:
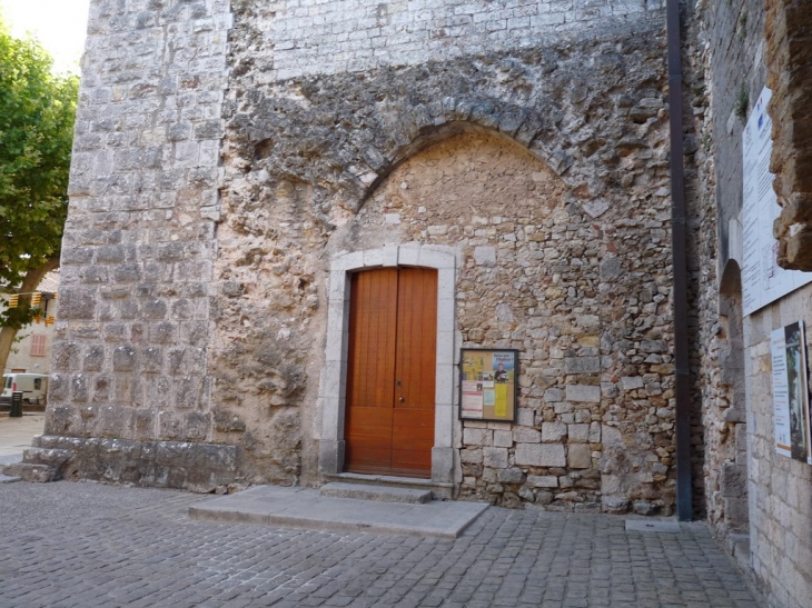
[[(36, 288), (59, 265), (79, 80), (51, 73), (51, 66), (34, 40), (12, 38), (0, 21), (0, 291), (4, 292), (24, 292), (32, 283)], [(22, 300), (21, 307), (4, 309), (2, 331), (16, 333), (30, 322), (29, 308)], [(7, 356), (0, 343), (0, 369)]]

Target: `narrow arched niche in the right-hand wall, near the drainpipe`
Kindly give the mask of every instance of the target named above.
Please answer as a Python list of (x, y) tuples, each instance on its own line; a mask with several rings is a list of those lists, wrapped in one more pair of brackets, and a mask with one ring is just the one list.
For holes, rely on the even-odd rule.
[[(719, 468), (719, 488), (724, 514), (719, 524), (726, 531), (747, 531), (747, 431), (744, 390), (744, 335), (742, 272), (731, 259), (722, 272), (719, 289), (720, 382), (726, 389), (729, 407), (721, 412), (727, 431), (727, 449)], [(713, 457), (713, 456), (709, 456)], [(719, 457), (719, 455), (716, 455)]]

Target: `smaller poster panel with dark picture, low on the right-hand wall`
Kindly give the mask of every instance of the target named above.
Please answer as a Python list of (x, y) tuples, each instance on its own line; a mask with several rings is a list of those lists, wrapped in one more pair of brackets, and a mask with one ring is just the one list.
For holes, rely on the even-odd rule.
[(806, 333), (798, 321), (770, 335), (775, 451), (812, 465)]

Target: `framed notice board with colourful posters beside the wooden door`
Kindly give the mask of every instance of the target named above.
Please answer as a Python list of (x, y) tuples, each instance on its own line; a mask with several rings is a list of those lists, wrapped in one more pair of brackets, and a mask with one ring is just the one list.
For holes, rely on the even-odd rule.
[(515, 422), (517, 402), (518, 350), (461, 349), (461, 420)]

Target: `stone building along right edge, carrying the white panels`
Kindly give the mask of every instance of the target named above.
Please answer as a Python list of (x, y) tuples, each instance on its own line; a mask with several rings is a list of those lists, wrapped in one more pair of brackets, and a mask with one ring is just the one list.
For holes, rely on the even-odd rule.
[(689, 325), (704, 428), (694, 485), (766, 604), (802, 608), (812, 605), (812, 2), (689, 12)]

